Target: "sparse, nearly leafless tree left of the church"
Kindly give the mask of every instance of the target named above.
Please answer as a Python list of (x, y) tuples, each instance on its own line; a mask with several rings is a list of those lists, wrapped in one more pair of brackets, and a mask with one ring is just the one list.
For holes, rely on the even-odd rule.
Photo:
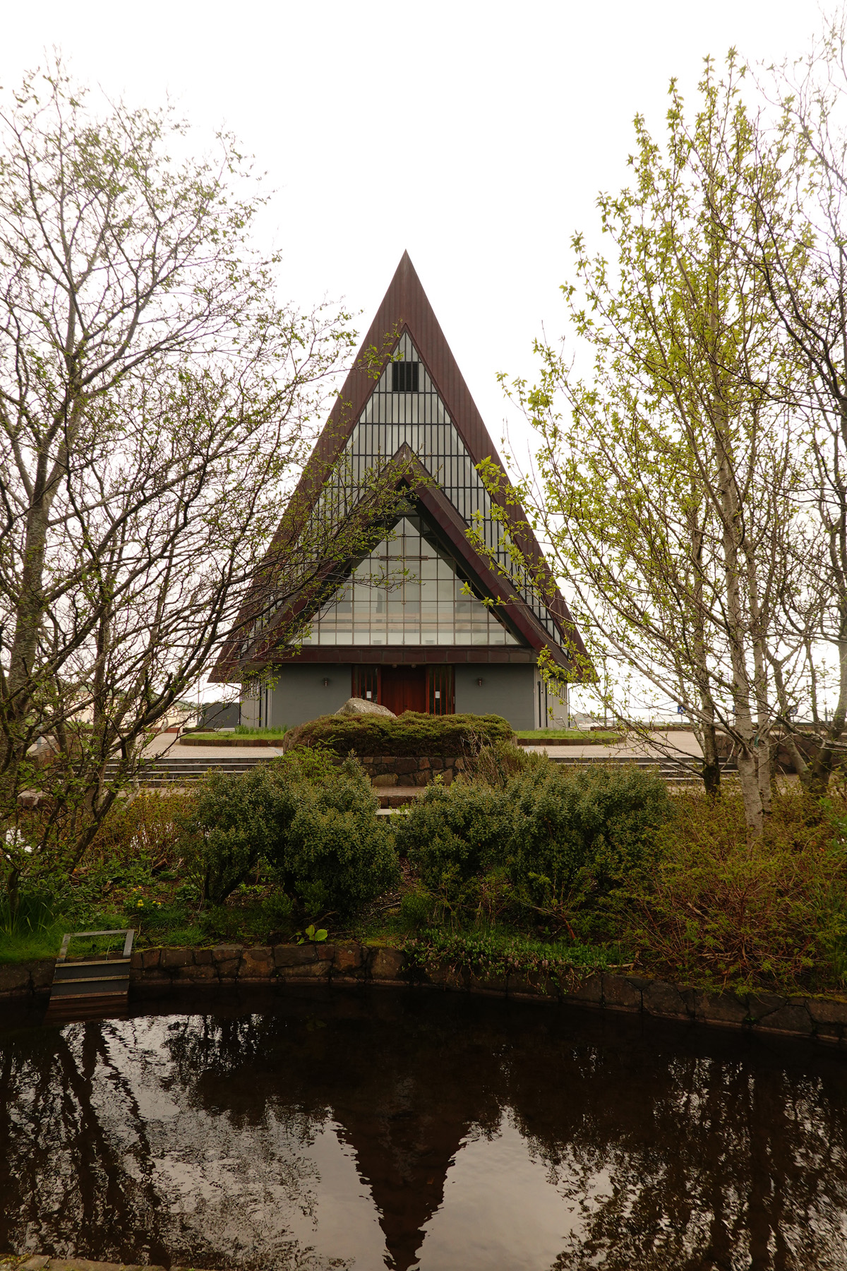
[[(0, 132), (0, 825), (14, 888), (33, 841), (79, 859), (149, 730), (208, 669), (353, 337), (342, 311), (276, 299), (278, 261), (250, 244), (263, 200), (232, 139), (177, 161), (185, 128), (168, 111), (95, 111), (61, 62), (6, 100)], [(38, 774), (27, 752), (46, 732), (60, 754)], [(27, 785), (48, 796), (37, 825), (20, 821)]]

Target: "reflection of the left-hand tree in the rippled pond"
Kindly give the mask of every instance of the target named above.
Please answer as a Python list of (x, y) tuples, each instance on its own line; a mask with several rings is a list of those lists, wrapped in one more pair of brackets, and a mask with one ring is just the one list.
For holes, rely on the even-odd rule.
[(260, 1247), (255, 1265), (329, 1266), (278, 1216), (314, 1211), (315, 1167), (297, 1153), (314, 1127), (267, 1118), (234, 1152), (226, 1118), (184, 1116), (166, 1035), (138, 1019), (4, 1038), (0, 1247), (159, 1263), (183, 1251), (216, 1267), (222, 1251), (250, 1266)]

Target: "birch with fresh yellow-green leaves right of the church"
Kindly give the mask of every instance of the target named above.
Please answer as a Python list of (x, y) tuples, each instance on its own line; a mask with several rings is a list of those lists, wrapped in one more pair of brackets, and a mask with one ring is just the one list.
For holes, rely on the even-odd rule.
[(809, 455), (786, 393), (792, 351), (761, 271), (735, 249), (756, 215), (745, 170), (759, 164), (786, 268), (804, 252), (786, 244), (790, 174), (759, 160), (742, 80), (734, 55), (724, 79), (707, 61), (691, 123), (672, 84), (664, 147), (636, 118), (632, 186), (598, 200), (612, 259), (578, 235), (577, 277), (563, 287), (592, 371), (574, 370), (570, 344), (540, 342), (538, 384), (513, 391), (541, 442), (538, 486), (521, 497), (575, 591), (578, 622), (682, 703), (711, 791), (716, 735), (729, 735), (759, 833), (775, 681), (796, 700), (820, 544), (801, 515)]

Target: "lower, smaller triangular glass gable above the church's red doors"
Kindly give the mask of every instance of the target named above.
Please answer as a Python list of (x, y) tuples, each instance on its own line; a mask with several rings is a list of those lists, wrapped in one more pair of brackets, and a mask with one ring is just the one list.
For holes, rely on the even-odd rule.
[(518, 644), (464, 586), (420, 517), (404, 516), (321, 608), (303, 644)]

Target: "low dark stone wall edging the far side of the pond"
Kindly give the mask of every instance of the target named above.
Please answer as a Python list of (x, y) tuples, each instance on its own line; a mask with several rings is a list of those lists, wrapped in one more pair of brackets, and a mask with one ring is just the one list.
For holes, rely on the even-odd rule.
[[(46, 996), (52, 960), (0, 966), (0, 998)], [(133, 998), (169, 995), (187, 988), (286, 984), (389, 985), (523, 998), (566, 1005), (629, 1010), (662, 1019), (752, 1028), (847, 1045), (847, 999), (782, 996), (777, 993), (706, 993), (663, 980), (607, 971), (579, 975), (532, 972), (480, 979), (448, 963), (422, 971), (400, 948), (358, 941), (215, 948), (152, 948), (132, 955)]]

